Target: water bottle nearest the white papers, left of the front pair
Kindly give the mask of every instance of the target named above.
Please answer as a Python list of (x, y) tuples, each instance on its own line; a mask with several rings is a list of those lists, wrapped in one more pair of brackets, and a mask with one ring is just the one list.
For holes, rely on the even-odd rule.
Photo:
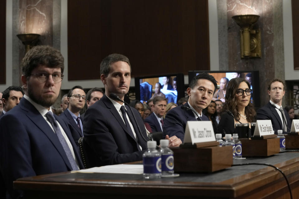
[(142, 155), (145, 179), (161, 178), (161, 153), (156, 146), (156, 141), (147, 141), (147, 151)]

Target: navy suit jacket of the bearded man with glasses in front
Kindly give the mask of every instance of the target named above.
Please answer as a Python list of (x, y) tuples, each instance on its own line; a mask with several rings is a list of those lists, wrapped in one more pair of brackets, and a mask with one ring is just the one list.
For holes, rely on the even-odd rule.
[[(80, 169), (79, 151), (68, 126), (54, 115), (71, 142)], [(12, 198), (21, 195), (13, 190), (17, 178), (70, 171), (71, 165), (58, 137), (37, 109), (25, 98), (0, 120), (0, 170)]]

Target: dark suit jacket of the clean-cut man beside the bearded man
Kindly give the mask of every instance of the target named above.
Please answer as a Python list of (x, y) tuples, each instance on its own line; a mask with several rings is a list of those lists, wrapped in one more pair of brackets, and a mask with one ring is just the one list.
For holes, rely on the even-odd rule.
[(145, 127), (139, 112), (132, 109), (143, 138), (132, 119), (131, 110), (128, 106), (126, 109), (142, 151), (140, 151), (135, 137), (129, 134), (126, 124), (106, 95), (85, 112), (84, 139), (98, 156), (97, 166), (142, 160), (142, 154), (147, 148), (147, 141), (144, 138), (148, 140)]

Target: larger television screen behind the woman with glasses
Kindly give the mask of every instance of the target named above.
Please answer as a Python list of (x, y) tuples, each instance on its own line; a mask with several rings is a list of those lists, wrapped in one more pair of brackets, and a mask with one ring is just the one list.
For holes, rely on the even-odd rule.
[(189, 71), (189, 84), (192, 78), (201, 72), (208, 72), (210, 75), (215, 77), (216, 81), (218, 81), (218, 89), (214, 95), (214, 100), (221, 99), (221, 101), (224, 101), (225, 95), (220, 91), (223, 87), (222, 82), (225, 82), (226, 80), (225, 78), (227, 78), (228, 81), (230, 81), (232, 78), (240, 77), (246, 79), (250, 83), (250, 89), (253, 90), (250, 98), (251, 101), (254, 103), (255, 106), (260, 105), (259, 71)]

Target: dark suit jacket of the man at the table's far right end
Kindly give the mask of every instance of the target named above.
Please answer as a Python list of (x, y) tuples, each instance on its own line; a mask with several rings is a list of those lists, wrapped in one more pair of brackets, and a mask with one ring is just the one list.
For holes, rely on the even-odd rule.
[[(290, 116), (289, 113), (283, 109), (284, 114), (286, 115), (287, 118), (287, 127), (289, 128), (287, 132), (290, 132), (291, 130), (291, 125), (292, 123), (290, 123)], [(260, 108), (257, 112), (256, 112), (256, 120), (268, 120), (270, 119), (272, 122), (272, 126), (273, 126), (273, 130), (275, 134), (277, 133), (277, 130), (282, 130), (283, 131), (283, 126), (282, 126), (282, 122), (281, 119), (277, 113), (277, 109), (275, 109), (270, 102), (268, 102), (268, 104), (264, 105), (262, 108)], [(282, 132), (282, 133), (287, 133), (287, 132)]]

